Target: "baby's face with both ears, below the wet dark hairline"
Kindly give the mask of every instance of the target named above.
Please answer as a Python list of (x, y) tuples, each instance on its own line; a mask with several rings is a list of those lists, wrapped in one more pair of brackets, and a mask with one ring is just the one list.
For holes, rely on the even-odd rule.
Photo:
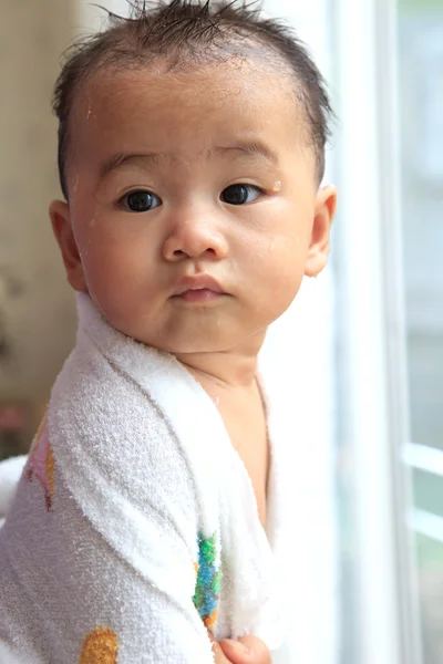
[(71, 123), (53, 226), (71, 284), (128, 336), (234, 349), (324, 266), (334, 191), (318, 191), (285, 76), (248, 62), (96, 76)]

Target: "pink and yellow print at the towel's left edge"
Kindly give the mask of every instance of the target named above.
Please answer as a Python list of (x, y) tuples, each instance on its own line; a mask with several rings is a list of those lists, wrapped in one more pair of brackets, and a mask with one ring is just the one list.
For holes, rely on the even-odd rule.
[(37, 477), (40, 481), (44, 489), (47, 509), (50, 511), (54, 497), (55, 459), (49, 443), (47, 417), (45, 414), (29, 453), (27, 479), (31, 480)]

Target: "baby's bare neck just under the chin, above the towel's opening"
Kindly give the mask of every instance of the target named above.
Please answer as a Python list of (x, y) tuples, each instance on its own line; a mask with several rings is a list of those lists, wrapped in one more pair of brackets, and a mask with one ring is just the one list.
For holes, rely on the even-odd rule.
[(256, 382), (257, 357), (264, 340), (265, 333), (228, 351), (184, 353), (176, 357), (199, 383), (213, 383), (229, 390), (249, 387)]

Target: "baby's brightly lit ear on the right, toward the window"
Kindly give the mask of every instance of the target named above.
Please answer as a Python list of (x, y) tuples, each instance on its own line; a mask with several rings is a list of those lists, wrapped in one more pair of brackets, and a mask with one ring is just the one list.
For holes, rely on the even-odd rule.
[(337, 207), (336, 187), (322, 187), (316, 199), (311, 245), (305, 266), (307, 277), (317, 277), (326, 267), (329, 256), (329, 237)]

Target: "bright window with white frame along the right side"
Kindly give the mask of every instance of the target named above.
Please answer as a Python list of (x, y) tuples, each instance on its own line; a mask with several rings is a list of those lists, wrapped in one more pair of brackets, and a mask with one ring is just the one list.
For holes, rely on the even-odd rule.
[[(332, 6), (348, 664), (443, 657), (443, 2)], [(343, 483), (342, 483), (343, 484)]]

